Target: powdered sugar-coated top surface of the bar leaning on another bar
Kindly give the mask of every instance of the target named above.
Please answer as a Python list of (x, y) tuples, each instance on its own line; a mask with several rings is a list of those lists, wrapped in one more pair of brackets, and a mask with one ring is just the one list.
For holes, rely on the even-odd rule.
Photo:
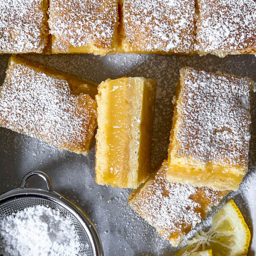
[[(178, 156), (203, 163), (248, 166), (250, 141), (247, 78), (184, 68), (176, 139)], [(245, 102), (247, 102), (245, 104)]]

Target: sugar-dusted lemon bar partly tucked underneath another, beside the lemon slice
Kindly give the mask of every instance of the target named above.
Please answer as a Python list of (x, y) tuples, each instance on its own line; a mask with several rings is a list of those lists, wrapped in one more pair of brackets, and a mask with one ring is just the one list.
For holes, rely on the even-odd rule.
[(129, 195), (128, 205), (176, 247), (228, 191), (169, 182), (166, 180), (167, 169), (165, 160)]

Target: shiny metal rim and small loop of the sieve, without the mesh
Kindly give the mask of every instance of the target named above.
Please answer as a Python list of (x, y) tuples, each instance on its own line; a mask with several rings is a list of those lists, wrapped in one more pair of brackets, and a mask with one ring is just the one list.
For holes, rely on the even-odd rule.
[[(29, 177), (34, 175), (38, 175), (45, 180), (47, 189), (26, 187), (26, 181), (29, 179)], [(0, 206), (8, 201), (13, 201), (18, 198), (42, 198), (52, 201), (55, 204), (61, 205), (61, 207), (64, 207), (67, 211), (74, 215), (74, 217), (79, 221), (87, 233), (92, 247), (93, 256), (104, 256), (102, 242), (93, 222), (79, 207), (73, 204), (70, 200), (53, 191), (52, 182), (46, 173), (42, 171), (32, 171), (27, 173), (23, 177), (20, 187), (9, 190), (0, 195)]]

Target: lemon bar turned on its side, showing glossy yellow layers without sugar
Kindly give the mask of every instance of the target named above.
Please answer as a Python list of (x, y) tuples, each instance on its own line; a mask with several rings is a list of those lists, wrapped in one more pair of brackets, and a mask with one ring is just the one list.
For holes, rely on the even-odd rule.
[(148, 177), (155, 86), (143, 77), (99, 84), (96, 183), (137, 188)]

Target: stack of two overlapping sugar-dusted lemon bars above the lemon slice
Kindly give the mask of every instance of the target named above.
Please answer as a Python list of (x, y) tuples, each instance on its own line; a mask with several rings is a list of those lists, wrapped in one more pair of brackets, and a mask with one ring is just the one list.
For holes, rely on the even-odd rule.
[(248, 170), (252, 89), (246, 77), (180, 70), (168, 161), (128, 202), (173, 246), (239, 188)]

